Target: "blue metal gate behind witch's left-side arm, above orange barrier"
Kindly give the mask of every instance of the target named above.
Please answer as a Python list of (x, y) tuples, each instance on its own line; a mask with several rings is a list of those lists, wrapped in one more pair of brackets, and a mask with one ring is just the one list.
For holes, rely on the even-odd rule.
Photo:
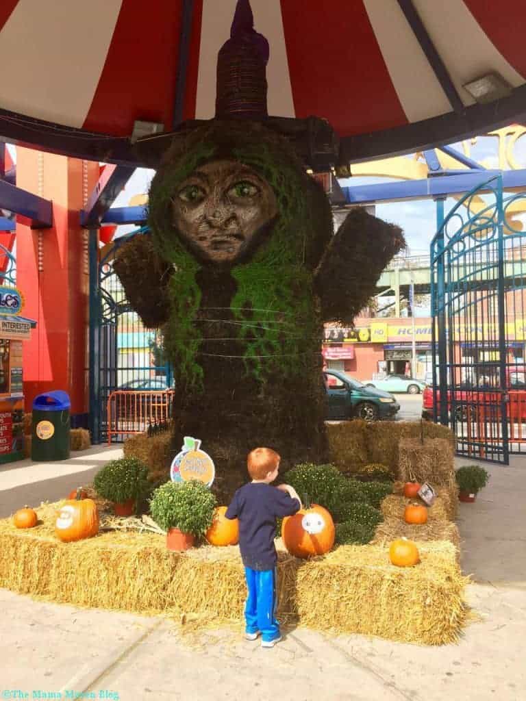
[(90, 417), (94, 443), (107, 440), (107, 402), (114, 390), (161, 391), (172, 386), (162, 335), (158, 329), (144, 327), (113, 268), (119, 247), (133, 236), (148, 233), (144, 227), (121, 236), (100, 252), (96, 232), (90, 243)]

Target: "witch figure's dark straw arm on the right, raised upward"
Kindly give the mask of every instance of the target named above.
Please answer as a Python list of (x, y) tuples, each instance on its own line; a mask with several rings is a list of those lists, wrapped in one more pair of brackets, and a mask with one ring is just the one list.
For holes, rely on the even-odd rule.
[(351, 210), (316, 271), (323, 321), (352, 323), (375, 294), (386, 265), (404, 247), (400, 227), (372, 217), (363, 207)]

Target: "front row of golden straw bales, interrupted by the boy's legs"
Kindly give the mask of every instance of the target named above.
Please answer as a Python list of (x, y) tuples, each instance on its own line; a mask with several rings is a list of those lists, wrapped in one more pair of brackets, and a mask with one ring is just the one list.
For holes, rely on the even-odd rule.
[[(60, 543), (53, 535), (59, 506), (37, 509), (34, 529), (0, 521), (0, 587), (76, 606), (204, 615), (203, 625), (242, 617), (238, 547), (173, 553), (163, 535), (126, 531)], [(451, 543), (419, 548), (422, 564), (396, 568), (386, 546), (345, 545), (304, 561), (278, 544), (278, 615), (298, 615), (300, 623), (321, 630), (431, 645), (454, 641), (466, 619), (466, 578)]]

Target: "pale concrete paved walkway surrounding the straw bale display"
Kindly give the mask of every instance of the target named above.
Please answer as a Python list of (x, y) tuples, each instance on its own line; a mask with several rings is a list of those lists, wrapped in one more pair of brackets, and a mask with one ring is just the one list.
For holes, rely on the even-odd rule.
[[(2, 468), (1, 514), (55, 501), (118, 455), (97, 448), (62, 463)], [(331, 638), (304, 628), (273, 650), (225, 629), (189, 644), (167, 620), (0, 590), (0, 698), (524, 701), (526, 460), (487, 469), (490, 484), (476, 503), (460, 505), (463, 567), (474, 582), (468, 599), (481, 619), (458, 645)]]

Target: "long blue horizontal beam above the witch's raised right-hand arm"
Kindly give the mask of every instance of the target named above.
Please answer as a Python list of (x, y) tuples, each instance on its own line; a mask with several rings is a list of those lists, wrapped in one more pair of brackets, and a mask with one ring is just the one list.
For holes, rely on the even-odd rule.
[[(342, 187), (348, 204), (362, 205), (391, 200), (422, 200), (469, 192), (485, 182), (499, 170), (463, 172), (461, 175), (444, 175), (423, 180), (405, 180), (379, 185), (351, 185)], [(502, 172), (504, 189), (526, 187), (526, 169)]]

